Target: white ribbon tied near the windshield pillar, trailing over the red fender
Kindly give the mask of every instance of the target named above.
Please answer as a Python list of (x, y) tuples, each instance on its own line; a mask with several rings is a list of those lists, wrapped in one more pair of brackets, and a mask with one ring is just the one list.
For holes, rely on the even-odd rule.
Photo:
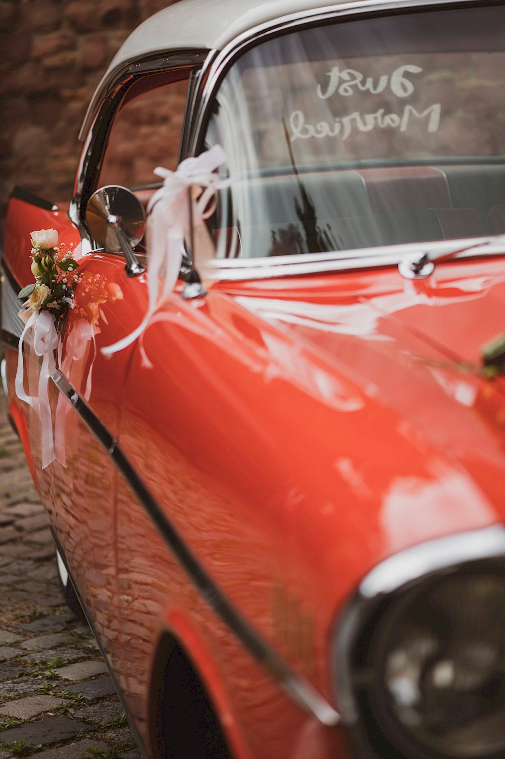
[[(213, 172), (226, 161), (221, 145), (215, 145), (197, 158), (187, 158), (180, 162), (177, 171), (158, 166), (155, 175), (163, 177), (163, 186), (155, 192), (147, 206), (150, 215), (149, 269), (147, 272), (147, 289), (149, 307), (142, 323), (130, 335), (101, 348), (103, 354), (110, 355), (127, 348), (146, 329), (158, 304), (165, 300), (174, 290), (182, 263), (184, 229), (190, 226), (188, 194), (193, 185), (205, 187), (194, 206), (193, 224), (202, 224), (204, 219), (214, 213), (214, 204), (207, 209), (209, 202), (221, 187), (228, 187), (230, 180), (221, 180)], [(193, 200), (191, 201), (193, 202)], [(207, 210), (205, 210), (207, 209)], [(193, 255), (194, 255), (194, 251)], [(164, 276), (160, 293), (159, 278)]]

